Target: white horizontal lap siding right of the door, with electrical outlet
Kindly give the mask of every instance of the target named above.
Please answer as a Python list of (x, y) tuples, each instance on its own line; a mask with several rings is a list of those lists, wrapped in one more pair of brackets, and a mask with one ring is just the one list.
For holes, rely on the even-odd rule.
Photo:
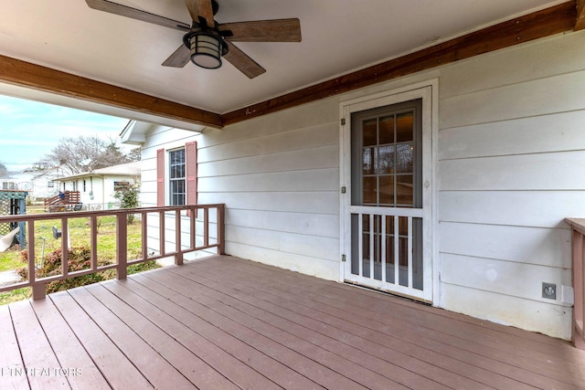
[[(560, 294), (571, 285), (563, 218), (585, 215), (585, 56), (575, 50), (583, 37), (552, 37), (441, 70), (445, 309), (570, 337)], [(542, 298), (542, 282), (557, 284), (557, 300)]]

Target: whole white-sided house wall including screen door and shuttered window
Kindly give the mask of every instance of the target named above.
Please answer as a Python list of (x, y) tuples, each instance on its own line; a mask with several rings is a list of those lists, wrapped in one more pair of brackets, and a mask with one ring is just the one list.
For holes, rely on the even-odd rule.
[(542, 38), (222, 130), (129, 128), (143, 206), (194, 203), (197, 188), (198, 203), (226, 204), (229, 255), (569, 339), (584, 40)]

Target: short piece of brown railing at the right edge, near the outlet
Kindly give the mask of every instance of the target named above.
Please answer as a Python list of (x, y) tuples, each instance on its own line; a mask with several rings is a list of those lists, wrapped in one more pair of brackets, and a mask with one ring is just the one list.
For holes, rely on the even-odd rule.
[(575, 291), (573, 306), (573, 343), (579, 349), (585, 350), (585, 219), (567, 218), (572, 229), (572, 279)]

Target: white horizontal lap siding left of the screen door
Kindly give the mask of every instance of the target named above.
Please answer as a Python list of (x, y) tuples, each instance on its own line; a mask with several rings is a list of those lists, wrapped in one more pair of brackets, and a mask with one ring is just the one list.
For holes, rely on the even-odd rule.
[[(338, 279), (337, 115), (336, 100), (325, 100), (176, 141), (158, 129), (143, 157), (197, 141), (198, 203), (226, 204), (227, 253)], [(145, 198), (154, 182), (145, 169)]]

